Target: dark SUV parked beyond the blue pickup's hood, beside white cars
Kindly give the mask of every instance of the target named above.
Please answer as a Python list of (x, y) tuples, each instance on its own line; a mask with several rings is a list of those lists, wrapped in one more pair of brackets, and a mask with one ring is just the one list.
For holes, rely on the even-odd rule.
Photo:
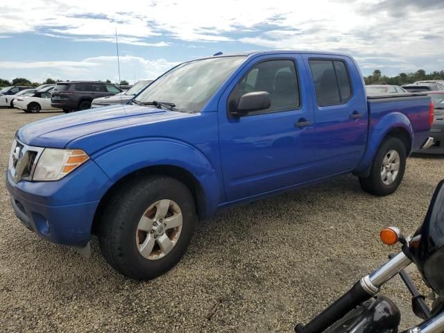
[(64, 112), (87, 110), (93, 99), (118, 94), (122, 90), (111, 83), (92, 81), (59, 82), (51, 92), (51, 106)]

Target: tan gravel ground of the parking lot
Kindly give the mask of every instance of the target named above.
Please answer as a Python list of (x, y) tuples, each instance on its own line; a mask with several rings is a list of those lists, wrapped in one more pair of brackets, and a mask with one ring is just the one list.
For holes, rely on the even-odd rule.
[[(2, 170), (17, 128), (55, 114), (0, 110)], [(135, 282), (105, 263), (97, 239), (85, 259), (26, 230), (2, 172), (0, 331), (291, 332), (398, 250), (380, 243), (379, 230), (414, 232), (443, 175), (443, 157), (416, 156), (386, 198), (342, 176), (220, 212), (198, 225), (173, 270)], [(398, 303), (402, 327), (418, 322), (399, 278), (382, 293)]]

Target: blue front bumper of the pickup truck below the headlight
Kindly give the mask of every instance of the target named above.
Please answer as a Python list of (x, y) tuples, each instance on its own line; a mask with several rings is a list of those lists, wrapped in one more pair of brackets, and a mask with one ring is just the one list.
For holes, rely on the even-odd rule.
[(87, 164), (56, 182), (15, 183), (6, 172), (12, 209), (26, 228), (52, 243), (87, 246), (99, 198), (109, 181), (94, 162)]

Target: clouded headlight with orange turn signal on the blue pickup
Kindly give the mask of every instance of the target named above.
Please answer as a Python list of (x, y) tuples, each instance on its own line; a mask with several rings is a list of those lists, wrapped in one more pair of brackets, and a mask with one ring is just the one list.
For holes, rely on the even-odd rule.
[(35, 167), (33, 180), (59, 180), (89, 160), (80, 149), (45, 148)]

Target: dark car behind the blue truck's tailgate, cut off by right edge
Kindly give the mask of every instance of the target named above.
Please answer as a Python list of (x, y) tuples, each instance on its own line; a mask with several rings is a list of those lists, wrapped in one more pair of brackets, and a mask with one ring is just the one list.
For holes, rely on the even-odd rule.
[(430, 137), (433, 137), (434, 144), (430, 148), (422, 149), (420, 153), (444, 154), (444, 91), (428, 92), (434, 103), (434, 119), (430, 129)]

